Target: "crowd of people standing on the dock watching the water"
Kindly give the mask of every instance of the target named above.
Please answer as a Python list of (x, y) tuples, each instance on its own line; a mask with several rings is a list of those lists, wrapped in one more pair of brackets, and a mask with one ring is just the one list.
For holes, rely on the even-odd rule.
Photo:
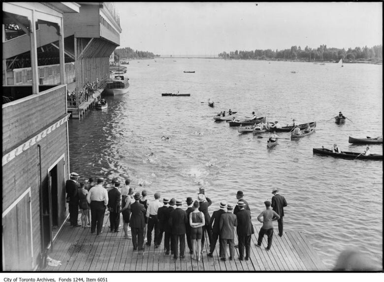
[[(67, 203), (69, 207), (69, 221), (71, 226), (91, 228), (91, 234), (102, 234), (103, 219), (109, 212), (111, 232), (120, 232), (120, 214), (123, 218), (124, 239), (132, 240), (133, 250), (144, 252), (144, 246), (160, 247), (164, 238), (164, 251), (166, 255), (173, 255), (174, 259), (184, 258), (186, 255), (186, 241), (192, 259), (200, 261), (204, 250), (205, 234), (209, 240), (209, 253), (213, 257), (217, 242), (219, 241), (220, 259), (226, 260), (226, 249), (229, 246), (229, 259), (234, 259), (235, 247), (239, 249), (239, 260), (250, 258), (251, 236), (255, 233), (251, 221), (251, 209), (244, 199), (243, 191), (237, 191), (235, 204), (220, 202), (218, 210), (212, 215), (208, 208), (212, 200), (205, 195), (203, 188), (195, 200), (187, 197), (187, 209), (182, 209), (181, 199), (163, 197), (160, 192), (154, 193), (154, 200), (147, 199), (147, 191), (135, 192), (130, 188), (130, 180), (121, 186), (120, 181), (113, 180), (112, 187), (104, 187), (104, 178), (99, 177), (96, 183), (93, 178), (89, 183), (78, 182), (79, 175), (70, 174), (65, 183)], [(262, 223), (258, 233), (256, 247), (260, 247), (264, 235), (267, 235), (267, 251), (272, 246), (273, 224), (278, 220), (279, 236), (283, 236), (284, 207), (286, 199), (279, 194), (278, 189), (272, 190), (272, 200), (265, 201), (265, 210), (257, 220)], [(81, 211), (81, 225), (78, 224), (78, 210)], [(129, 234), (129, 231), (131, 234)], [(152, 233), (154, 238), (152, 241)], [(235, 246), (235, 232), (238, 245)], [(145, 243), (145, 245), (144, 245)], [(180, 254), (180, 255), (179, 255)]]

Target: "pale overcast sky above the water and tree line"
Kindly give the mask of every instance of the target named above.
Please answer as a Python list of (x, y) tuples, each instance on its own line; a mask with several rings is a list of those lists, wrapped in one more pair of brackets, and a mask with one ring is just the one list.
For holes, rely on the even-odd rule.
[(218, 54), (382, 44), (382, 2), (115, 2), (120, 47), (155, 54)]

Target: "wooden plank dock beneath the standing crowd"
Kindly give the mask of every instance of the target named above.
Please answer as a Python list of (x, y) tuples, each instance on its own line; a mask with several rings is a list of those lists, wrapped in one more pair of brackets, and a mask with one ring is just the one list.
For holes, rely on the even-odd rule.
[[(80, 215), (79, 215), (80, 217)], [(80, 221), (80, 220), (79, 220)], [(255, 227), (252, 235), (251, 257), (248, 261), (238, 259), (239, 252), (233, 260), (219, 259), (219, 243), (214, 257), (209, 257), (209, 247), (204, 245), (200, 262), (192, 260), (186, 242), (186, 257), (173, 259), (173, 255), (164, 253), (163, 242), (160, 248), (145, 245), (144, 254), (133, 251), (132, 240), (124, 239), (124, 231), (111, 232), (108, 228), (109, 217), (104, 217), (103, 233), (91, 234), (90, 228), (71, 227), (66, 223), (53, 243), (53, 251), (48, 255), (61, 261), (61, 265), (47, 266), (40, 271), (101, 271), (101, 272), (151, 272), (151, 271), (321, 271), (327, 269), (311, 247), (304, 234), (296, 231), (284, 232), (283, 237), (274, 232), (272, 248), (266, 251), (267, 237), (261, 248), (255, 247), (260, 227)], [(121, 219), (121, 224), (122, 219)], [(122, 227), (121, 227), (122, 228)], [(153, 236), (152, 236), (153, 238)], [(205, 242), (209, 240), (206, 237)], [(237, 238), (235, 239), (237, 244)], [(180, 255), (180, 254), (179, 254)]]

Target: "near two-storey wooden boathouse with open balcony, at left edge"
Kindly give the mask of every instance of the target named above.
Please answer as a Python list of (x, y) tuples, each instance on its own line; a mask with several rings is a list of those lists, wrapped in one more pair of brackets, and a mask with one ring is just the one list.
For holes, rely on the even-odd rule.
[[(78, 14), (79, 6), (75, 2), (2, 3), (4, 271), (32, 271), (44, 264), (67, 218), (69, 114), (63, 15)], [(37, 49), (49, 42), (57, 42), (59, 50), (55, 65), (57, 78), (42, 85)], [(20, 75), (26, 83), (12, 82), (13, 71), (7, 68), (7, 59), (25, 52), (29, 54), (30, 66)], [(18, 63), (23, 63), (23, 58)], [(15, 63), (17, 58), (14, 60)]]

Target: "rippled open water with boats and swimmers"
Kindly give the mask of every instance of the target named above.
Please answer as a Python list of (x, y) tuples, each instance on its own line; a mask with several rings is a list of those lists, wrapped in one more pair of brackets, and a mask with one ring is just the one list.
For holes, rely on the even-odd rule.
[[(203, 187), (213, 200), (210, 212), (221, 200), (235, 203), (243, 190), (255, 224), (272, 188), (279, 188), (288, 201), (285, 230), (303, 231), (327, 266), (354, 248), (382, 267), (383, 162), (321, 157), (312, 148), (336, 143), (363, 152), (364, 146), (348, 143), (349, 135), (382, 134), (383, 66), (175, 60), (131, 61), (128, 94), (107, 97), (108, 110), (69, 121), (71, 171), (109, 180), (129, 176), (131, 187), (147, 189), (150, 199), (160, 191), (185, 200)], [(161, 97), (177, 91), (191, 96)], [(201, 103), (208, 98), (214, 109)], [(214, 122), (229, 108), (244, 115), (255, 110), (283, 125), (316, 120), (316, 132), (268, 150), (266, 139)], [(329, 121), (339, 111), (353, 123)], [(372, 145), (371, 152), (383, 154), (383, 146)]]

